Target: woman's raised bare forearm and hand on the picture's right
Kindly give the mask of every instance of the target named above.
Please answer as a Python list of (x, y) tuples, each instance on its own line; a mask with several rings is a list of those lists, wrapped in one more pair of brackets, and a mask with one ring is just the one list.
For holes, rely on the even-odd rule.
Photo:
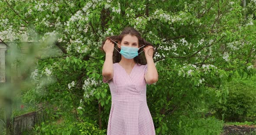
[[(145, 80), (147, 84), (154, 84), (158, 81), (158, 71), (155, 67), (154, 60), (153, 60), (153, 51), (148, 52), (149, 49), (153, 48), (152, 46), (146, 46), (144, 48), (145, 57), (148, 63), (148, 71), (145, 74)], [(153, 49), (151, 49), (153, 50)], [(148, 53), (151, 53), (148, 55)]]

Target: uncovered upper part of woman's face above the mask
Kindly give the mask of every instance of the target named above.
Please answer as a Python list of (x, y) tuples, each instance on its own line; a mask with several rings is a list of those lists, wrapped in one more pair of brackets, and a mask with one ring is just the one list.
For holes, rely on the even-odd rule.
[[(119, 45), (139, 48), (138, 42), (139, 42), (138, 38), (135, 35), (125, 35), (121, 41), (121, 44), (119, 43)], [(121, 48), (119, 45), (118, 45), (118, 48)]]

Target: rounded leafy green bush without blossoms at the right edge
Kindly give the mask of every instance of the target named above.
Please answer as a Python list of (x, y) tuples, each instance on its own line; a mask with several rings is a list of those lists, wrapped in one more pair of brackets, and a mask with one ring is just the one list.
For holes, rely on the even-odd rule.
[(246, 117), (256, 114), (256, 77), (242, 80), (234, 78), (227, 84), (229, 94), (226, 102), (217, 102), (212, 107), (219, 119), (232, 122), (244, 122)]

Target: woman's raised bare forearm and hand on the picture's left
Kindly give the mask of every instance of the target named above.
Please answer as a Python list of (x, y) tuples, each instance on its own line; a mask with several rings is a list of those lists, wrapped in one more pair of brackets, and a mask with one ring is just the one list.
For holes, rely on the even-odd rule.
[(105, 78), (105, 80), (110, 80), (114, 75), (112, 59), (114, 44), (109, 39), (107, 39), (103, 46), (103, 50), (106, 53), (106, 58), (102, 68), (102, 76)]

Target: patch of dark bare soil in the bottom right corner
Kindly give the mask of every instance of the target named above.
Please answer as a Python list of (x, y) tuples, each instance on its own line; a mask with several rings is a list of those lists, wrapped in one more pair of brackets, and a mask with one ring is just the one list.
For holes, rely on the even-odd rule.
[(222, 135), (256, 135), (256, 125), (224, 125)]

